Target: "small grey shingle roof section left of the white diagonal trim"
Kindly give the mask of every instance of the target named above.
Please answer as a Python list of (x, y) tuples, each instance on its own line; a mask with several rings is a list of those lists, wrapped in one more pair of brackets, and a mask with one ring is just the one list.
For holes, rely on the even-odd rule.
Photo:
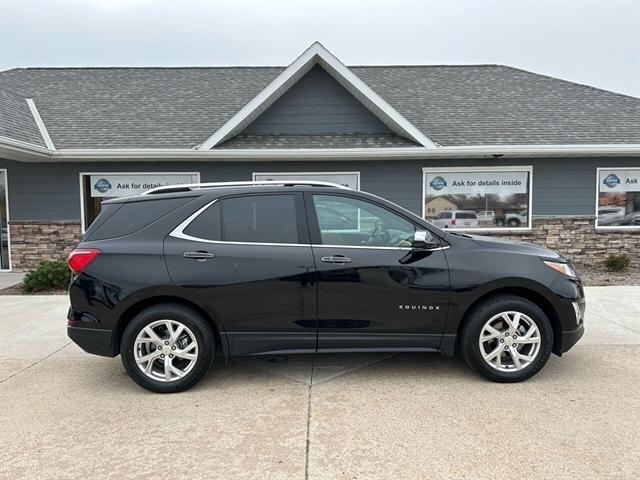
[(27, 99), (0, 88), (0, 136), (45, 146)]

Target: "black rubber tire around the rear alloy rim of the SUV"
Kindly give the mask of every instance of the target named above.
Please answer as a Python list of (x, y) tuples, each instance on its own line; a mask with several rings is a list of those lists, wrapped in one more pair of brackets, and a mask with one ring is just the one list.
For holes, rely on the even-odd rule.
[[(180, 380), (160, 382), (147, 377), (138, 367), (134, 343), (138, 333), (157, 320), (175, 320), (184, 324), (198, 342), (198, 358), (194, 367)], [(215, 334), (209, 322), (196, 310), (183, 305), (161, 304), (138, 313), (122, 335), (120, 356), (129, 376), (141, 387), (155, 393), (176, 393), (195, 385), (209, 370), (215, 354)]]

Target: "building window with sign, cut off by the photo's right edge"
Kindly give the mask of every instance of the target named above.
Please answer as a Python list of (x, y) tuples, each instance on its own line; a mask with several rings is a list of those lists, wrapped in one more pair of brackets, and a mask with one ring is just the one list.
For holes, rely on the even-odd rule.
[(598, 168), (596, 228), (640, 228), (640, 168)]

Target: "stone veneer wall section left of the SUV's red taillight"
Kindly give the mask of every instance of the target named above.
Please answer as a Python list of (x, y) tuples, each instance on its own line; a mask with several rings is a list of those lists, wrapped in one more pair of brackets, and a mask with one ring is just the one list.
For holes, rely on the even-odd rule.
[(10, 222), (11, 267), (20, 272), (43, 260), (66, 260), (80, 241), (79, 222)]

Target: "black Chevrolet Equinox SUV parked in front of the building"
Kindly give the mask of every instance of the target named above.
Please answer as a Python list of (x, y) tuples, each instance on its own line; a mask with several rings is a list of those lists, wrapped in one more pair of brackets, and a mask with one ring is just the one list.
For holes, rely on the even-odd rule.
[(71, 252), (69, 337), (154, 392), (216, 354), (441, 352), (498, 382), (584, 331), (581, 282), (531, 244), (443, 232), (322, 182), (161, 187), (109, 200)]

